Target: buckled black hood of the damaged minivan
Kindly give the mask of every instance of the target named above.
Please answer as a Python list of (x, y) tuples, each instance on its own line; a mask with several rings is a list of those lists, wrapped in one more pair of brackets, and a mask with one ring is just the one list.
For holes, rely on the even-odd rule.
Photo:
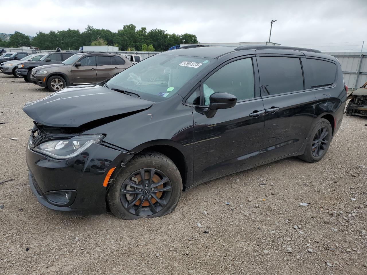
[(46, 98), (26, 103), (23, 111), (43, 125), (85, 128), (85, 125), (92, 125), (91, 122), (99, 126), (146, 110), (153, 104), (145, 99), (95, 85), (65, 88)]

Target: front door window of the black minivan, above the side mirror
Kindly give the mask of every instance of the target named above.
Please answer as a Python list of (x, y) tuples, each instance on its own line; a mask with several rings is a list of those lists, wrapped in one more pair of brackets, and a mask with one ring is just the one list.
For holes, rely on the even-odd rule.
[(203, 88), (205, 105), (209, 104), (209, 97), (215, 92), (235, 95), (238, 101), (254, 98), (252, 59), (240, 59), (225, 65), (204, 82)]

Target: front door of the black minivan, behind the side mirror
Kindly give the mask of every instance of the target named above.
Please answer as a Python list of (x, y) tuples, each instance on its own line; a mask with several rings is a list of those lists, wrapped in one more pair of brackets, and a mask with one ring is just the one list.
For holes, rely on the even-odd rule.
[(264, 105), (254, 67), (256, 60), (251, 57), (231, 60), (203, 81), (203, 105), (209, 105), (214, 92), (235, 95), (237, 104), (230, 109), (219, 109), (212, 118), (206, 117), (205, 109), (193, 106), (194, 183), (258, 163), (264, 115), (254, 113), (264, 110)]

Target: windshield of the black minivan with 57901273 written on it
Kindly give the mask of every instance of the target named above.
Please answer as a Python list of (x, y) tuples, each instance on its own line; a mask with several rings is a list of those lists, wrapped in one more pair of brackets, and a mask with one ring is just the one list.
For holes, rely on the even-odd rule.
[(123, 89), (159, 102), (175, 95), (212, 60), (193, 56), (154, 55), (112, 77), (107, 85), (109, 89)]

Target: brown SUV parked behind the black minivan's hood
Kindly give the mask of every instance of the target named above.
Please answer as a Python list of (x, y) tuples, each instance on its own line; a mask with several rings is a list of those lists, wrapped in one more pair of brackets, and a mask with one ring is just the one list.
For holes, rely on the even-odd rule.
[(61, 64), (34, 68), (30, 79), (34, 84), (57, 92), (66, 86), (101, 82), (130, 66), (132, 63), (120, 54), (82, 52), (69, 57)]

